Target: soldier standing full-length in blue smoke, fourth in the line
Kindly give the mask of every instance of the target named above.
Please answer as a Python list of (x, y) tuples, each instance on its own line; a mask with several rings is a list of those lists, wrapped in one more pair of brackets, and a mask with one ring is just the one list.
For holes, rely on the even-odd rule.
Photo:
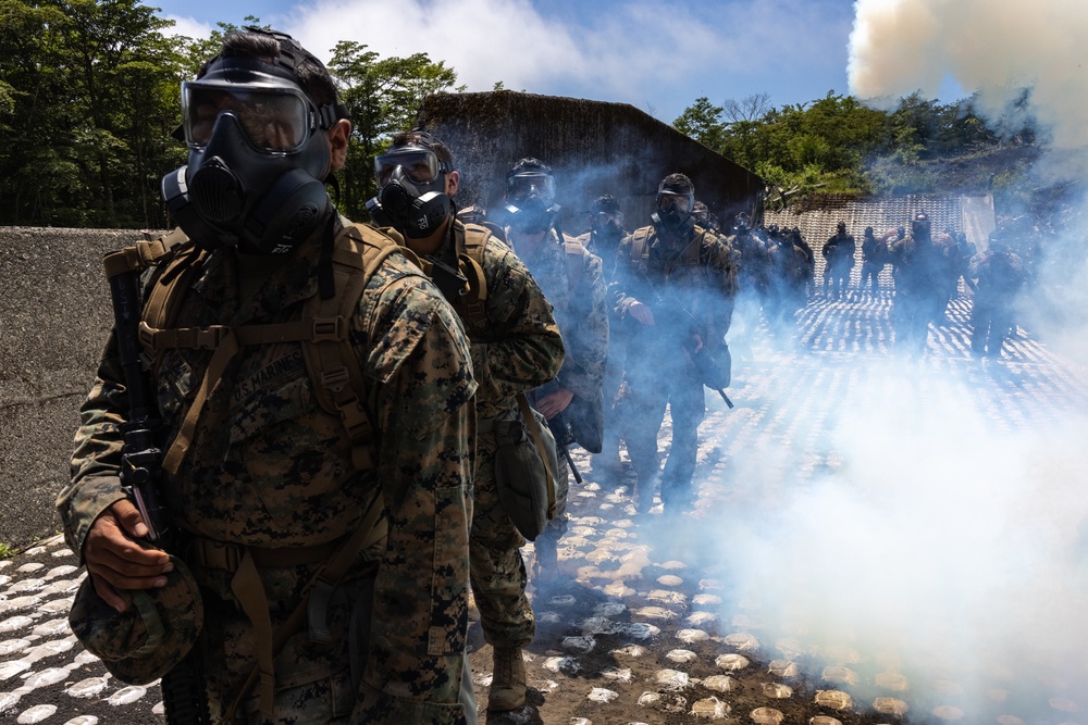
[[(672, 449), (662, 472), (662, 502), (669, 513), (694, 503), (703, 386), (729, 384), (725, 335), (737, 267), (728, 245), (695, 223), (694, 202), (691, 179), (666, 176), (657, 188), (652, 223), (625, 237), (619, 258), (623, 272), (609, 285), (609, 301), (628, 335), (617, 417), (625, 422), (622, 435), (638, 474), (640, 512), (653, 503), (660, 465), (657, 432), (666, 405), (672, 416)], [(700, 364), (708, 360), (713, 364)], [(707, 371), (716, 371), (716, 379), (706, 379)]]

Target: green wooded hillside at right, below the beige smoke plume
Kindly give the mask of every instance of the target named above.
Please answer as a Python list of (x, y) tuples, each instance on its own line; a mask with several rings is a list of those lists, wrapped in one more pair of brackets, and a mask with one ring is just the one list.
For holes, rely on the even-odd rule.
[[(766, 93), (720, 107), (703, 97), (672, 125), (753, 170), (767, 182), (771, 203), (787, 203), (814, 193), (986, 187), (993, 164), (974, 164), (976, 174), (965, 170), (1010, 145), (1034, 141), (1025, 104), (1026, 99), (1013, 104), (991, 128), (974, 112), (973, 99), (942, 104), (913, 93), (880, 111), (836, 93), (779, 109), (767, 108)], [(1009, 173), (1015, 175), (1015, 167)]]

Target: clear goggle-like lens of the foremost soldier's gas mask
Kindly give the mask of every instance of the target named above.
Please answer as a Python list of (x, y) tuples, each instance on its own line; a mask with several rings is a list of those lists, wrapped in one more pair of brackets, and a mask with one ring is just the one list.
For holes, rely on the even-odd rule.
[(182, 118), (189, 148), (206, 147), (224, 113), (234, 116), (256, 150), (267, 153), (298, 151), (314, 125), (312, 104), (295, 88), (227, 90), (198, 80), (182, 84)]

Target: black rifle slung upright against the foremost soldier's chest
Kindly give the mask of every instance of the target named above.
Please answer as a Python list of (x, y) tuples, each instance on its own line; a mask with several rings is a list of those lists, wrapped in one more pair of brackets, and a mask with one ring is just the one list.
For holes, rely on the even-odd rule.
[[(121, 486), (139, 510), (148, 540), (170, 552), (176, 550), (174, 532), (161, 504), (162, 450), (157, 445), (159, 422), (154, 417), (151, 385), (140, 362), (139, 277), (135, 271), (110, 276), (113, 330), (118, 357), (128, 392), (128, 421), (121, 426)], [(169, 725), (211, 725), (208, 695), (197, 659), (199, 647), (162, 676), (160, 688)]]

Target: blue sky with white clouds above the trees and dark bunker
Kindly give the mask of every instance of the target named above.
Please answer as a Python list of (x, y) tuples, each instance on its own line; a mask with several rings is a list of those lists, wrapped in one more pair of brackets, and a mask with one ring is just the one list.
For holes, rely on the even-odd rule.
[(468, 90), (631, 103), (671, 122), (696, 98), (772, 105), (849, 92), (852, 0), (147, 0), (206, 35), (252, 14), (327, 60), (339, 40), (382, 57), (426, 52)]

